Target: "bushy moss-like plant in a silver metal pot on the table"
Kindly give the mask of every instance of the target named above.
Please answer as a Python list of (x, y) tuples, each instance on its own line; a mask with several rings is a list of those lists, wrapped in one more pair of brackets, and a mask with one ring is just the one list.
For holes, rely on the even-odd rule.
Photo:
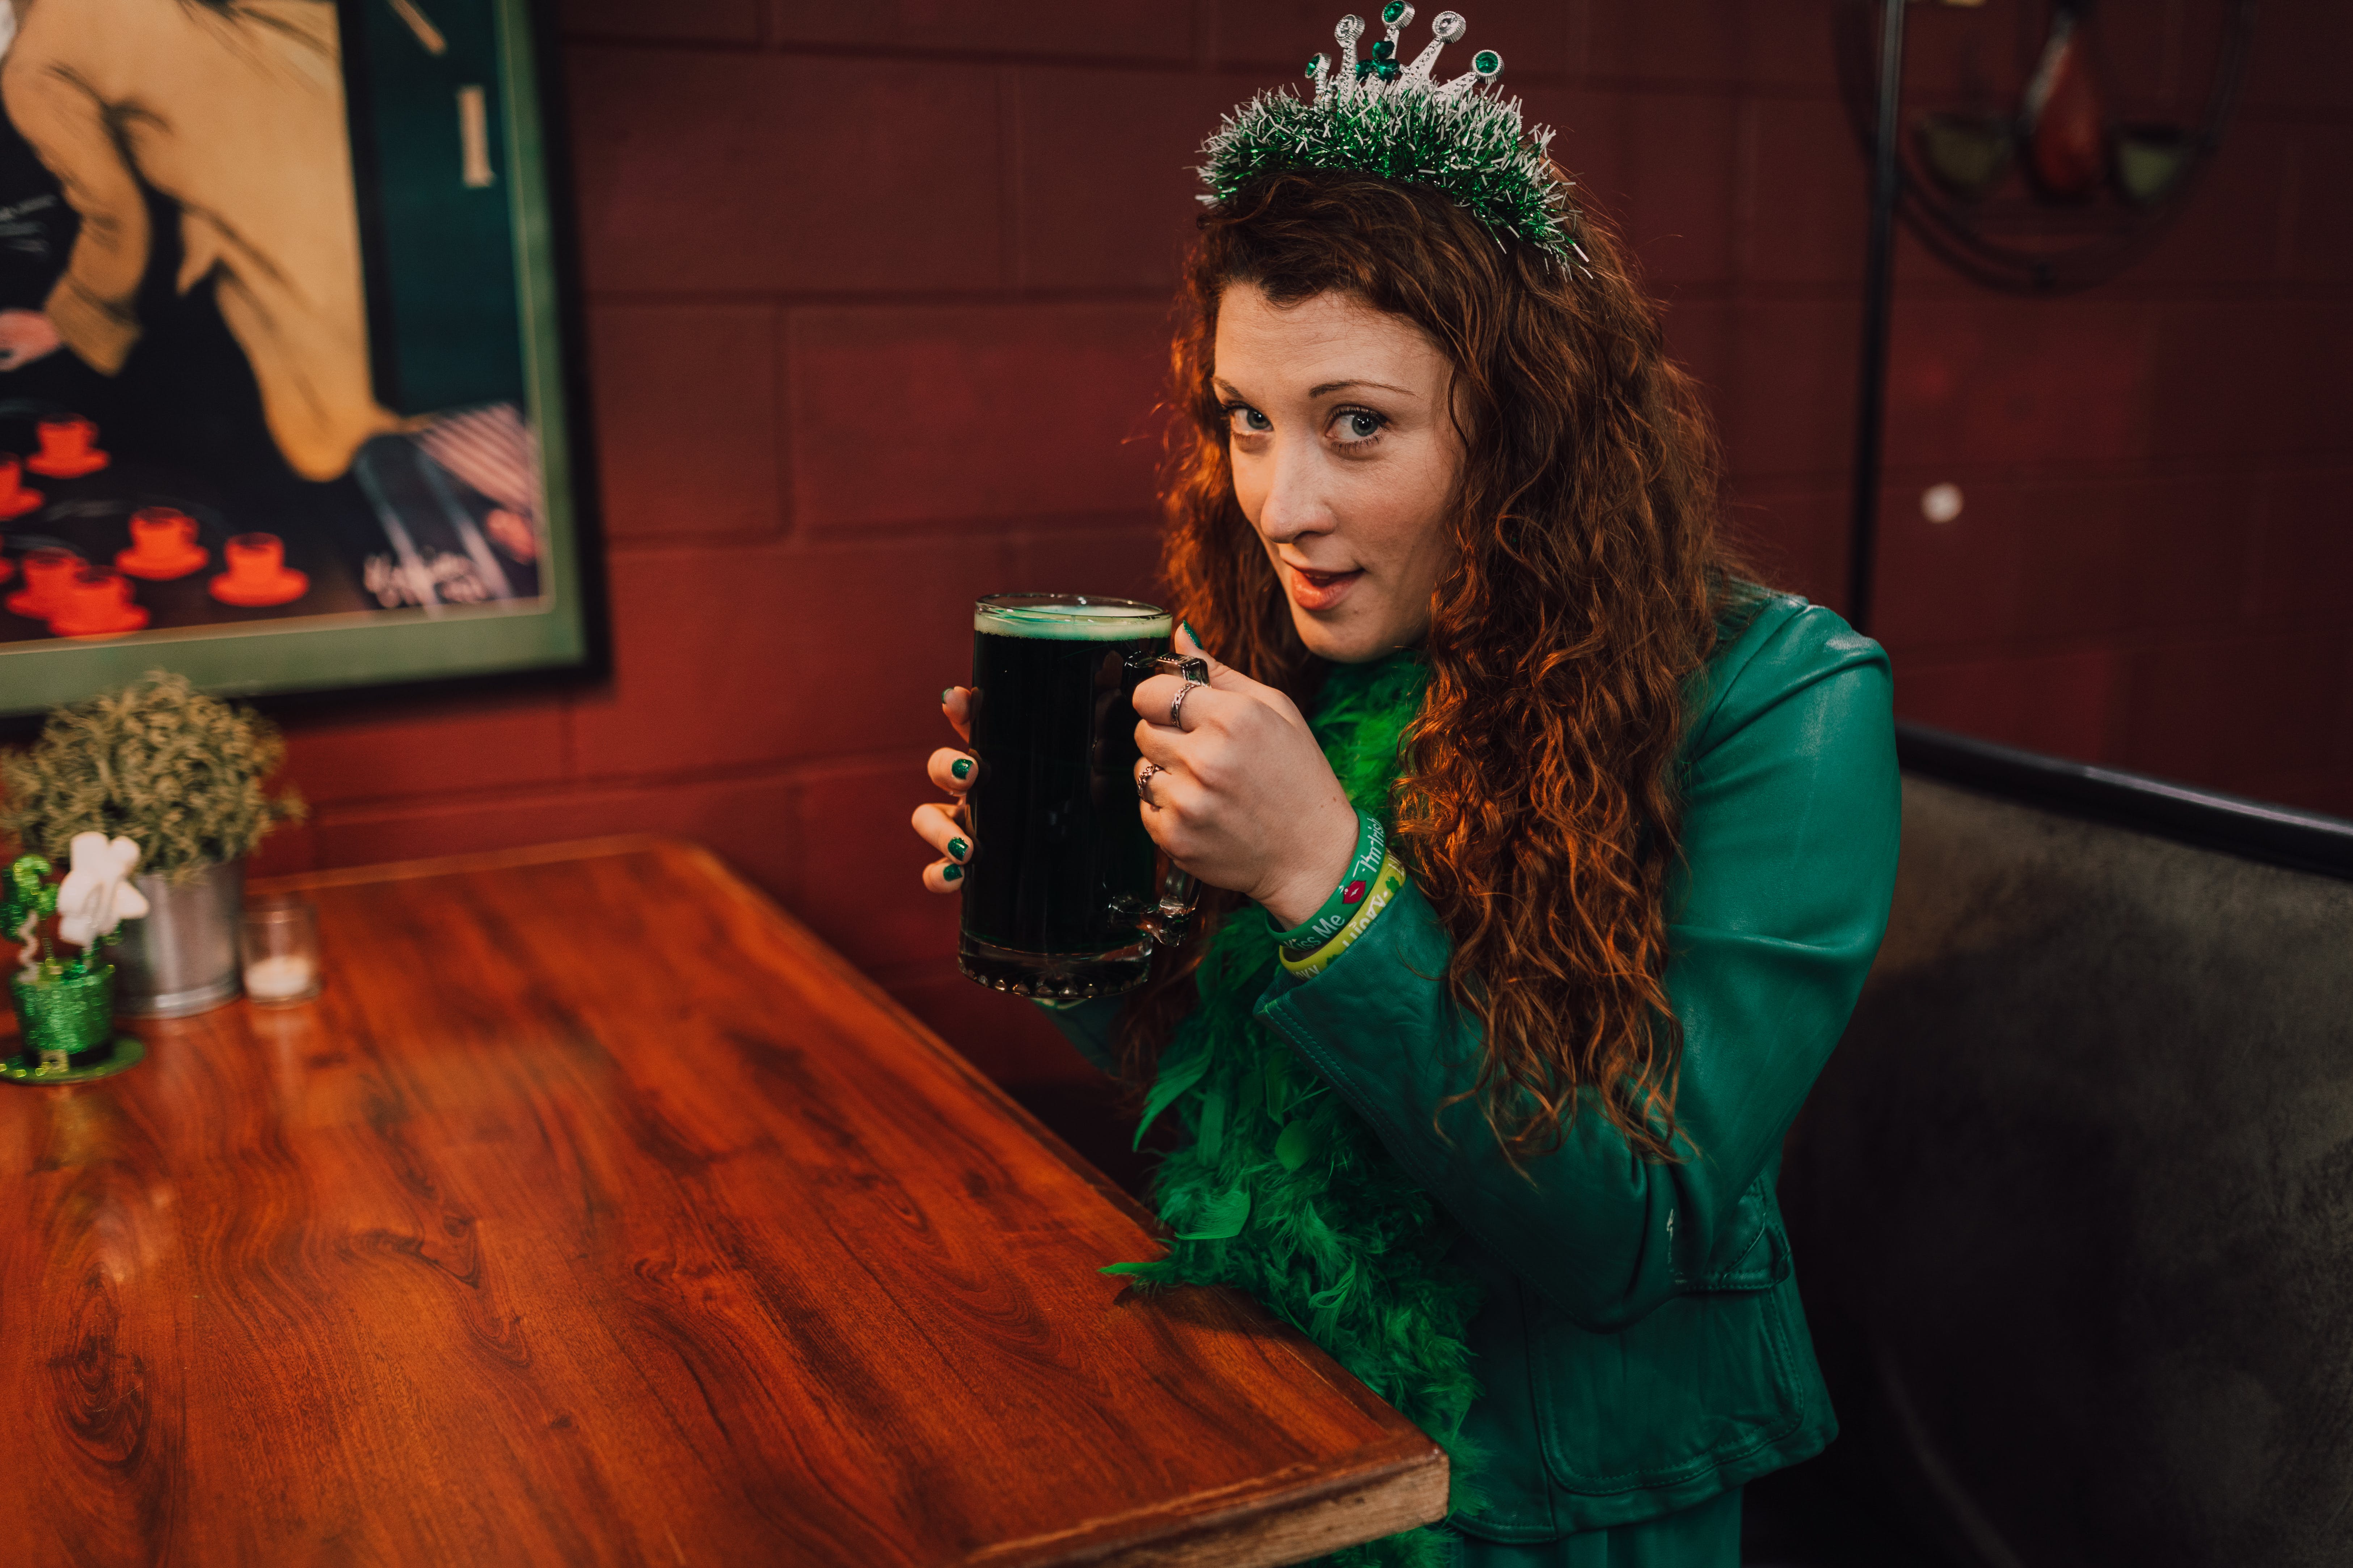
[(0, 830), (64, 860), (73, 837), (144, 846), (148, 917), (115, 950), (115, 1009), (176, 1018), (238, 994), (245, 856), (287, 818), (292, 792), (264, 788), (285, 743), (261, 715), (151, 672), (59, 708), (40, 738), (0, 752)]

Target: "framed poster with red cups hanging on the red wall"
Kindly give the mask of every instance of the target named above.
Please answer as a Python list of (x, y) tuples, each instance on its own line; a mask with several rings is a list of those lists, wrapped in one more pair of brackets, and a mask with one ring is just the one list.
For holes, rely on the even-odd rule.
[(591, 663), (527, 0), (0, 33), (0, 715)]

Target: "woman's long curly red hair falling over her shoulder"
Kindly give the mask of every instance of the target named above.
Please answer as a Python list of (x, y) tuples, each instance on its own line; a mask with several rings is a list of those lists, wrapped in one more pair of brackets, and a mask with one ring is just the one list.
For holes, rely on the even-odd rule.
[[(1558, 1147), (1591, 1098), (1635, 1150), (1673, 1159), (1671, 769), (1748, 574), (1720, 538), (1713, 430), (1657, 306), (1591, 214), (1588, 263), (1569, 270), (1435, 190), (1369, 174), (1275, 174), (1200, 230), (1169, 357), (1172, 604), (1252, 677), (1299, 698), (1322, 679), (1233, 494), (1209, 388), (1224, 289), (1278, 306), (1339, 292), (1428, 331), (1452, 360), (1466, 456), (1391, 842), (1454, 938), (1445, 980), (1485, 1030), (1471, 1093), (1506, 1152)], [(1129, 1004), (1132, 1081), (1148, 1081), (1233, 903), (1212, 900)]]

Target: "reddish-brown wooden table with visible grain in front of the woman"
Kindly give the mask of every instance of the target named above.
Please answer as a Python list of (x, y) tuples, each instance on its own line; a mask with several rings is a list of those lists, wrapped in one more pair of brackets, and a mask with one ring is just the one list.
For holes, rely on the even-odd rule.
[[(1445, 1458), (682, 844), (289, 879), (320, 1001), (0, 1084), (0, 1563), (1287, 1563)], [(14, 1048), (14, 1041), (5, 1041)]]

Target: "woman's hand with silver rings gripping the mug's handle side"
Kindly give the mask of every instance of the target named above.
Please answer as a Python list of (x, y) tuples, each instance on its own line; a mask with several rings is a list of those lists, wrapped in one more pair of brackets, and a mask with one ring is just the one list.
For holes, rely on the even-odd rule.
[[(1209, 658), (1191, 628), (1179, 654)], [(1136, 686), (1144, 827), (1169, 860), (1297, 926), (1332, 896), (1355, 853), (1355, 806), (1292, 698), (1209, 658), (1209, 684), (1174, 675)], [(1136, 769), (1144, 773), (1144, 769)]]

